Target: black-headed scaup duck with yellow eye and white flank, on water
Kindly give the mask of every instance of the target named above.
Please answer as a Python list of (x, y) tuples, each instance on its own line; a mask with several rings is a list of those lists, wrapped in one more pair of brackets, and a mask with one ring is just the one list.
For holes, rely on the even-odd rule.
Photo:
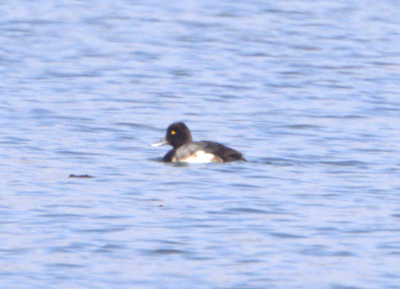
[(213, 141), (193, 141), (189, 128), (183, 122), (175, 122), (167, 129), (166, 136), (152, 144), (152, 147), (170, 144), (173, 149), (163, 162), (181, 163), (228, 163), (245, 161), (242, 154)]

